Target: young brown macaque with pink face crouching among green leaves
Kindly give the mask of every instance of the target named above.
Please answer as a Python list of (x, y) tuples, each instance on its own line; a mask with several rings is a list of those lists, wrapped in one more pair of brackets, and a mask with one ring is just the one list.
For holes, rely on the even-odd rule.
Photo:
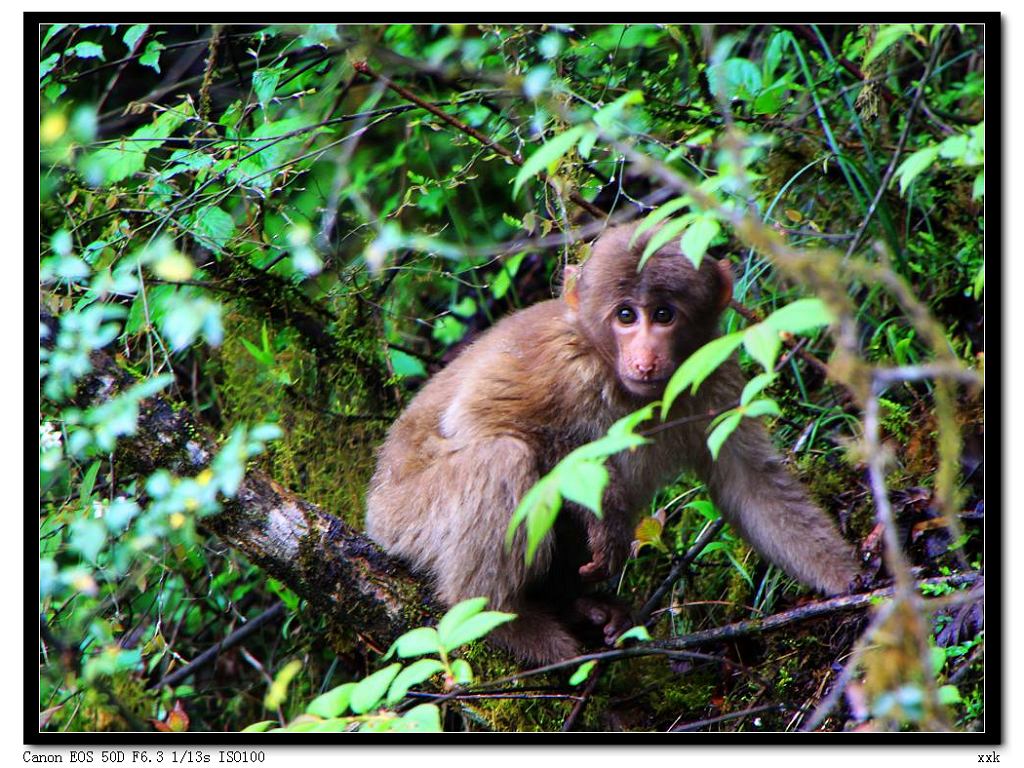
[(489, 607), (517, 613), (493, 639), (526, 662), (577, 653), (588, 624), (606, 640), (625, 629), (621, 612), (584, 594), (586, 585), (623, 565), (638, 514), (684, 469), (792, 577), (835, 594), (858, 572), (852, 548), (759, 422), (743, 419), (712, 461), (711, 417), (685, 418), (738, 401), (744, 380), (735, 360), (676, 399), (669, 420), (679, 424), (607, 461), (600, 519), (566, 504), (529, 565), (521, 528), (506, 548), (509, 518), (534, 483), (658, 399), (679, 364), (719, 333), (732, 296), (727, 263), (709, 257), (694, 268), (670, 244), (638, 271), (647, 238), (631, 246), (634, 231), (606, 230), (561, 298), (504, 318), (434, 376), (391, 427), (371, 482), (371, 538), (429, 573), (445, 604), (485, 596)]

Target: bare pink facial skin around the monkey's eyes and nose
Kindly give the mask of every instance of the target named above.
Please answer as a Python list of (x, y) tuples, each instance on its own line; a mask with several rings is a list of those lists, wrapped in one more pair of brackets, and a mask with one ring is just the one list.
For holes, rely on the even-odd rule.
[(624, 301), (611, 316), (618, 347), (618, 380), (631, 394), (657, 397), (676, 371), (679, 311), (668, 302)]

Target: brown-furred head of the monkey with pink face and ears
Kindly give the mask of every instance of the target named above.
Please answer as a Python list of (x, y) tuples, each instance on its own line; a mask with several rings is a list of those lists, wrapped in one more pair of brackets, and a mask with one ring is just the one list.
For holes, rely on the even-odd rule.
[(604, 232), (586, 263), (566, 275), (564, 298), (622, 387), (655, 399), (679, 364), (716, 335), (732, 298), (732, 273), (711, 257), (695, 268), (676, 238), (638, 271), (656, 228), (631, 245), (635, 230), (630, 224)]

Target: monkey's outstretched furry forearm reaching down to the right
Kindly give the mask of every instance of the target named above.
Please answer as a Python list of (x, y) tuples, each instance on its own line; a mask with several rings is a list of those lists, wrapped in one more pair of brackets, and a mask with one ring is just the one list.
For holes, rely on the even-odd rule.
[(708, 462), (703, 474), (715, 503), (758, 552), (823, 592), (850, 589), (859, 571), (853, 548), (788, 472), (760, 424), (744, 419)]

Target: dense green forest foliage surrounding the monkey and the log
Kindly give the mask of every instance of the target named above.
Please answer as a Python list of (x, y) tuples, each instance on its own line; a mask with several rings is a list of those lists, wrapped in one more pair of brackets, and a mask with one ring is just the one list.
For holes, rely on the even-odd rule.
[[(982, 27), (53, 25), (39, 58), (41, 728), (560, 728), (571, 701), (407, 696), (479, 678), (449, 653), (500, 621), (482, 605), (449, 620), (479, 622), (461, 642), (414, 629), (407, 645), (433, 645), (397, 655), (432, 655), (389, 666), (203, 521), (259, 464), (358, 527), (402, 403), (496, 319), (549, 298), (599, 215), (646, 217), (654, 241), (733, 262), (725, 335), (667, 392), (739, 353), (752, 381), (712, 424), (713, 453), (741, 418), (771, 417), (878, 569), (864, 470), (884, 452), (912, 563), (980, 569), (980, 397), (905, 370), (871, 382), (984, 370)], [(98, 350), (133, 387), (83, 394)], [(158, 392), (219, 438), (198, 476), (140, 472), (124, 447)], [(599, 511), (603, 459), (641, 440), (639, 422), (570, 456), (513, 524), (536, 542), (563, 496)], [(620, 590), (642, 601), (716, 517), (680, 478), (638, 527)], [(655, 639), (801, 592), (728, 528), (691, 573)], [(852, 684), (863, 706), (841, 702), (826, 727), (983, 727), (980, 595), (945, 592), (959, 608), (927, 614), (935, 668), (899, 672), (914, 646), (880, 622)], [(279, 602), (283, 623), (161, 684)], [(719, 662), (624, 657), (575, 725), (667, 729), (780, 703), (710, 727), (796, 728), (863, 629), (818, 621), (719, 646)], [(929, 680), (948, 711), (930, 709)]]

